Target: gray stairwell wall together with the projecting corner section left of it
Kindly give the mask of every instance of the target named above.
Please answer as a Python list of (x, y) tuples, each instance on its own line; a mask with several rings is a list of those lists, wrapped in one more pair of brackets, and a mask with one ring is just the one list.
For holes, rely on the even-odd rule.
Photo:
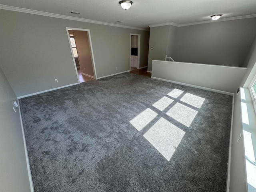
[(256, 36), (255, 23), (256, 18), (247, 18), (184, 27), (152, 27), (148, 70), (152, 60), (164, 60), (165, 54), (178, 62), (246, 67), (244, 60)]

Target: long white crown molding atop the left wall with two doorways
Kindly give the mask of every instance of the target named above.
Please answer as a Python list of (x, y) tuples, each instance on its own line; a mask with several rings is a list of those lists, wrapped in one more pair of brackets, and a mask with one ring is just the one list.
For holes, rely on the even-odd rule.
[(132, 27), (132, 26), (126, 26), (126, 25), (107, 23), (107, 22), (102, 22), (102, 21), (95, 21), (95, 20), (90, 20), (90, 19), (65, 16), (65, 15), (60, 15), (60, 14), (54, 14), (54, 13), (37, 11), (37, 10), (13, 7), (13, 6), (8, 6), (8, 5), (1, 5), (0, 4), (0, 9), (22, 12), (22, 13), (35, 14), (35, 15), (42, 15), (42, 16), (47, 16), (47, 17), (54, 17), (54, 18), (60, 18), (60, 19), (68, 19), (68, 20), (74, 20), (74, 21), (80, 21), (80, 22), (86, 22), (86, 23), (94, 23), (94, 24), (100, 24), (100, 25), (108, 25), (108, 26), (114, 26), (114, 27), (122, 27), (122, 28), (128, 28), (128, 29), (149, 31), (148, 29), (140, 28), (140, 27)]

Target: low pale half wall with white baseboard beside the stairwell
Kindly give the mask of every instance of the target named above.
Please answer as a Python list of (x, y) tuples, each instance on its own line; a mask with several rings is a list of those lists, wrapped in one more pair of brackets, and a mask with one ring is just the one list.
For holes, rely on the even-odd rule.
[(236, 92), (246, 68), (153, 60), (151, 78)]

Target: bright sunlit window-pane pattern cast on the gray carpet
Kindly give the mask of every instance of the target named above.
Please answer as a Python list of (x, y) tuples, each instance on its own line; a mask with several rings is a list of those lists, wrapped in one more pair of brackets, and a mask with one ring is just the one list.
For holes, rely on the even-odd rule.
[[(197, 110), (194, 110), (189, 106), (200, 109), (205, 99), (190, 93), (185, 93), (181, 97), (182, 94), (184, 94), (184, 91), (174, 89), (167, 94), (167, 96), (172, 98), (164, 96), (152, 104), (152, 106), (155, 109), (160, 110), (159, 113), (162, 113), (164, 109), (175, 103), (166, 112), (166, 115), (189, 128), (198, 113)], [(185, 104), (188, 104), (188, 106)], [(130, 120), (130, 123), (138, 131), (141, 131), (152, 122), (156, 116), (158, 116), (158, 113), (147, 108)], [(143, 136), (150, 142), (150, 144), (152, 144), (152, 146), (154, 146), (154, 148), (156, 148), (156, 150), (158, 150), (158, 152), (160, 152), (160, 154), (162, 154), (162, 156), (164, 156), (164, 158), (166, 158), (166, 160), (170, 161), (184, 135), (185, 132), (183, 130), (161, 117)]]

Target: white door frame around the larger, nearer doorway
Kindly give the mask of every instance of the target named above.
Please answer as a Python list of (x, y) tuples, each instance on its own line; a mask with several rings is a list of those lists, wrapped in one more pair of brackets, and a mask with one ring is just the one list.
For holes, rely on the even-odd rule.
[[(92, 39), (91, 39), (90, 29), (66, 27), (66, 32), (67, 32), (68, 38), (69, 38), (69, 33), (68, 33), (68, 30), (69, 30), (69, 29), (77, 30), (77, 31), (87, 31), (87, 32), (88, 32), (88, 38), (89, 38), (89, 42), (90, 42), (90, 45), (89, 45), (89, 46), (90, 46), (91, 57), (92, 57), (92, 69), (93, 69), (93, 74), (94, 74), (94, 78), (95, 78), (95, 79), (98, 79), (98, 78), (97, 78), (96, 67), (95, 67), (95, 61), (94, 61), (94, 54), (93, 54), (93, 50), (92, 50)], [(68, 43), (69, 43), (69, 46), (70, 46), (70, 50), (71, 50), (71, 54), (72, 54), (72, 58), (73, 58), (73, 62), (74, 62), (74, 67), (75, 67), (75, 71), (76, 71), (77, 80), (78, 80), (78, 83), (80, 83), (79, 77), (78, 77), (77, 68), (76, 68), (76, 61), (75, 61), (75, 57), (74, 57), (74, 54), (73, 54), (72, 45), (71, 45), (71, 42), (70, 42), (69, 39), (68, 39)]]

